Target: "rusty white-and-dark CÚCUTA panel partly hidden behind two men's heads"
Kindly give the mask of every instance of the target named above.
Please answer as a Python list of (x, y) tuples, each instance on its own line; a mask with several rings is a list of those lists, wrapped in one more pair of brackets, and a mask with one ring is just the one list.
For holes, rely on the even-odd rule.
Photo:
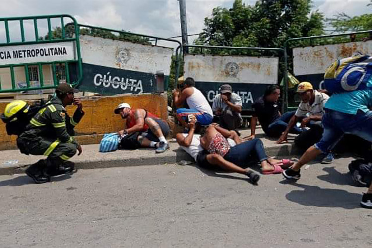
[(186, 54), (184, 78), (194, 78), (210, 104), (219, 87), (230, 84), (249, 110), (268, 84), (277, 83), (278, 67), (278, 57)]

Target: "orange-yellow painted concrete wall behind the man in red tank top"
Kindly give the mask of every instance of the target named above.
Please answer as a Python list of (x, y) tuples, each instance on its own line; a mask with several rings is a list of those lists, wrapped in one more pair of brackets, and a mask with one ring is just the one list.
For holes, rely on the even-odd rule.
[[(124, 120), (114, 114), (114, 109), (119, 103), (126, 102), (132, 108), (144, 108), (158, 117), (167, 120), (167, 95), (166, 94), (143, 94), (143, 95), (117, 95), (105, 97), (83, 98), (85, 116), (76, 126), (77, 139), (81, 144), (99, 143), (101, 134), (116, 132), (124, 129)], [(9, 102), (0, 103), (0, 113), (4, 112)], [(68, 106), (67, 111), (73, 115), (76, 107)], [(5, 124), (0, 123), (0, 150), (16, 149), (16, 136), (6, 134)]]

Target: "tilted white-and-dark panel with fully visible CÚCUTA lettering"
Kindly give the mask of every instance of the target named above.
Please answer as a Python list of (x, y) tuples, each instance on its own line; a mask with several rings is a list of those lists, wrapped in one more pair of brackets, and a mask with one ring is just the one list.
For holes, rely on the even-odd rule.
[(100, 94), (157, 92), (159, 77), (169, 77), (172, 48), (89, 35), (80, 36), (80, 47), (84, 58), (81, 90)]

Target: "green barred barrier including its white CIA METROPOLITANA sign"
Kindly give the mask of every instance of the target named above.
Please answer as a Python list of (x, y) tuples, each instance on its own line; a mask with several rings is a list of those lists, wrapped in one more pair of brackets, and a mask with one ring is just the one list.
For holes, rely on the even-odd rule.
[[(75, 37), (66, 37), (64, 18), (69, 19), (73, 26)], [(51, 19), (60, 21), (62, 37), (52, 36)], [(48, 34), (39, 37), (38, 24), (47, 21)], [(26, 41), (24, 22), (33, 22), (34, 39)], [(70, 15), (43, 15), (26, 17), (0, 18), (5, 24), (6, 42), (0, 43), (0, 93), (5, 92), (35, 92), (55, 88), (61, 80), (76, 85), (82, 78), (81, 57), (79, 49), (79, 30), (76, 20)], [(19, 30), (11, 29), (9, 22), (19, 23)], [(44, 27), (45, 28), (45, 27)], [(20, 32), (21, 41), (12, 40)], [(70, 81), (69, 66), (76, 66), (75, 81)], [(56, 70), (56, 66), (63, 69)], [(49, 66), (49, 80), (45, 75), (45, 66)], [(63, 71), (63, 72), (61, 72)], [(59, 76), (57, 76), (59, 73)], [(62, 75), (62, 77), (60, 77)], [(31, 78), (30, 78), (31, 77)], [(5, 86), (5, 87), (4, 87)], [(41, 91), (37, 91), (41, 92)]]

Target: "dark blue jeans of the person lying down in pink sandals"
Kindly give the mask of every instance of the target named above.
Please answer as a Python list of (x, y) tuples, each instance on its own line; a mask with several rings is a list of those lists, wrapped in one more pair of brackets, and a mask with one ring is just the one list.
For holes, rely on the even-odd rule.
[(227, 161), (240, 166), (247, 165), (250, 162), (255, 162), (257, 159), (263, 161), (267, 158), (265, 149), (263, 148), (263, 143), (260, 139), (253, 139), (240, 143), (239, 145), (232, 147), (224, 156), (224, 159)]

